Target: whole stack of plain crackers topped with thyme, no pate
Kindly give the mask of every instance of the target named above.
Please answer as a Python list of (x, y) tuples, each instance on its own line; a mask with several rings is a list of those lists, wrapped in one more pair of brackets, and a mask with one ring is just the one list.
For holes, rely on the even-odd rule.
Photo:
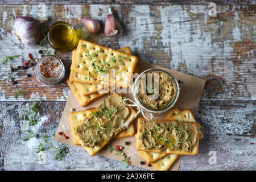
[[(115, 86), (128, 88), (130, 76), (137, 69), (137, 60), (129, 47), (115, 51), (81, 39), (77, 49), (72, 51), (68, 85), (79, 104), (86, 106), (110, 93)], [(110, 69), (114, 72), (112, 87)]]

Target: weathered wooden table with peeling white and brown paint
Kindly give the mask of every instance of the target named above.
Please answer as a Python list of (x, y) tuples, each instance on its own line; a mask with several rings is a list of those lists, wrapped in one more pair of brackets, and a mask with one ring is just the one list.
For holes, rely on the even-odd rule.
[[(13, 34), (18, 16), (38, 18), (38, 3), (43, 1), (0, 2), (0, 55), (20, 55), (8, 63), (23, 65), (28, 53), (40, 58), (39, 45), (26, 47)], [(205, 1), (44, 1), (49, 22), (64, 20), (80, 29), (80, 36), (103, 46), (119, 49), (129, 46), (139, 59), (176, 71), (207, 79), (196, 121), (204, 138), (197, 156), (184, 156), (180, 170), (255, 170), (256, 169), (256, 53), (253, 1), (213, 1), (217, 16), (209, 16)], [(110, 4), (111, 5), (110, 5)], [(109, 38), (103, 33), (88, 35), (79, 18), (96, 18), (104, 23), (109, 7), (124, 33)], [(44, 44), (43, 49), (53, 49)], [(56, 55), (64, 61), (66, 78), (71, 52)], [(34, 99), (43, 98), (38, 131), (54, 134), (69, 93), (65, 81), (56, 86), (38, 82), (35, 67), (13, 72), (17, 84), (4, 80), (9, 68), (0, 72), (0, 169), (2, 170), (143, 170), (102, 156), (93, 158), (78, 148), (67, 147), (68, 154), (56, 161), (48, 156), (39, 164), (36, 138), (22, 141), (23, 109)], [(28, 77), (27, 73), (32, 76)], [(16, 89), (24, 98), (15, 98)], [(216, 158), (215, 158), (216, 157)], [(216, 159), (216, 160), (214, 160)]]

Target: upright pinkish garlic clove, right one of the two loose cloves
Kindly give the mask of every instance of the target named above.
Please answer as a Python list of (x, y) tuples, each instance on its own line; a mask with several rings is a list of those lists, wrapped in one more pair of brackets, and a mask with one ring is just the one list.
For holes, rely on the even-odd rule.
[(111, 9), (109, 9), (109, 14), (105, 21), (104, 32), (106, 36), (117, 36), (122, 34), (122, 27), (117, 19), (114, 18)]

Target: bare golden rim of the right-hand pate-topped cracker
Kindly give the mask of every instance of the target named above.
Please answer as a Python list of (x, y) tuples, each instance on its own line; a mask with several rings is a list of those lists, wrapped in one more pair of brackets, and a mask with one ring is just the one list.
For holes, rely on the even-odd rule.
[[(166, 150), (164, 151), (160, 151), (156, 148), (152, 148), (150, 150), (146, 150), (144, 149), (142, 146), (141, 146), (141, 142), (139, 141), (139, 137), (141, 136), (141, 132), (143, 130), (143, 123), (142, 123), (142, 120), (144, 118), (139, 118), (138, 119), (138, 127), (137, 127), (137, 142), (136, 142), (136, 150), (139, 150), (139, 151), (148, 151), (148, 152), (159, 152), (159, 153), (166, 153), (166, 154), (178, 154), (178, 155), (197, 155), (198, 153), (198, 146), (199, 146), (199, 129), (200, 129), (200, 123), (197, 123), (197, 122), (186, 122), (186, 123), (189, 123), (191, 125), (191, 127), (193, 127), (193, 133), (195, 133), (197, 136), (197, 141), (196, 141), (196, 145), (193, 147), (193, 150), (191, 152), (188, 152), (188, 151), (184, 151), (184, 150), (169, 150), (169, 148), (167, 148)], [(171, 121), (171, 120), (167, 120), (167, 119), (153, 119), (153, 121), (156, 121), (156, 122), (174, 122), (174, 121)], [(176, 121), (178, 123), (182, 123), (180, 121)]]

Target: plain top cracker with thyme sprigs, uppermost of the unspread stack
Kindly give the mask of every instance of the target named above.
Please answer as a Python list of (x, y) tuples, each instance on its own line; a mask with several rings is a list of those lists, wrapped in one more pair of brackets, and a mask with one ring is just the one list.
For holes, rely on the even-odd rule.
[[(123, 59), (121, 59), (123, 57)], [(94, 62), (95, 61), (95, 62)], [(99, 46), (86, 40), (79, 40), (75, 60), (71, 64), (71, 71), (90, 75), (96, 80), (104, 80), (108, 77), (110, 81), (110, 67), (115, 70), (115, 85), (128, 87), (130, 82), (130, 73), (134, 73), (138, 57), (127, 55), (126, 53), (115, 51), (112, 48)], [(97, 67), (93, 67), (93, 62)], [(96, 68), (96, 69), (94, 69)], [(102, 69), (104, 74), (97, 73), (95, 70)]]

